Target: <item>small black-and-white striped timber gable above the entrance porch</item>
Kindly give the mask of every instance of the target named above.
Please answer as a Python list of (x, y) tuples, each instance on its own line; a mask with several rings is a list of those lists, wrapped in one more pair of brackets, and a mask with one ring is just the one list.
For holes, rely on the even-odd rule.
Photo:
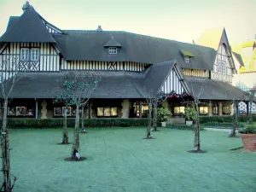
[(161, 91), (166, 94), (175, 93), (181, 95), (183, 92), (188, 92), (186, 84), (183, 82), (183, 75), (179, 73), (179, 70), (174, 66), (171, 72), (167, 75), (165, 82), (162, 84)]

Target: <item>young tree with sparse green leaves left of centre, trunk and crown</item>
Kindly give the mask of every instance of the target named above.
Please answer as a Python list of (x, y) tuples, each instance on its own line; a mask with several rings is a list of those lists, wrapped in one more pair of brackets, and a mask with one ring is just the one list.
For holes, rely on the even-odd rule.
[(100, 82), (100, 78), (97, 76), (91, 76), (87, 73), (71, 72), (65, 74), (64, 86), (69, 93), (69, 106), (76, 107), (76, 119), (75, 130), (73, 136), (73, 148), (71, 158), (73, 160), (79, 160), (79, 118), (80, 108), (84, 107), (90, 100), (90, 96), (96, 90), (97, 85)]

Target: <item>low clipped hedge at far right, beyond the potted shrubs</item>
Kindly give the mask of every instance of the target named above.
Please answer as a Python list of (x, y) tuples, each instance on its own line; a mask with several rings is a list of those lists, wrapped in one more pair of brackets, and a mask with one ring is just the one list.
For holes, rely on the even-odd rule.
[[(239, 122), (247, 122), (248, 117), (247, 116), (238, 116)], [(253, 121), (256, 121), (256, 116), (253, 116)], [(232, 123), (233, 122), (233, 116), (201, 116), (200, 117), (200, 123), (205, 124), (208, 122), (218, 122), (218, 123)]]

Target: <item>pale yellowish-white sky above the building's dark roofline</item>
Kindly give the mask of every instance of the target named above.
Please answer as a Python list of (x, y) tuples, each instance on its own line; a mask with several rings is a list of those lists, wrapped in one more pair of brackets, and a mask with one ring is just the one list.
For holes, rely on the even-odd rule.
[[(25, 0), (0, 0), (0, 35)], [(126, 31), (192, 43), (201, 33), (225, 27), (230, 44), (253, 40), (256, 0), (31, 0), (61, 29)]]

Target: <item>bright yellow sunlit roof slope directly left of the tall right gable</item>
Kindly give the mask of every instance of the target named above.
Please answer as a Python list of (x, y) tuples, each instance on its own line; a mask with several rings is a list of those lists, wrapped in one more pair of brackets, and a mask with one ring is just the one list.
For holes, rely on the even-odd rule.
[(220, 39), (224, 32), (224, 28), (222, 29), (212, 29), (201, 34), (201, 37), (197, 39), (196, 44), (201, 46), (211, 47), (212, 49), (217, 50)]

